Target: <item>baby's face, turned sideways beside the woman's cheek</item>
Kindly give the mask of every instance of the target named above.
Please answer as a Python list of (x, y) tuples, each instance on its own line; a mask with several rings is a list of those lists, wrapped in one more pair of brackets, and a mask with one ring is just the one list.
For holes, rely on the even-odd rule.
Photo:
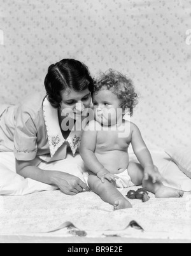
[(122, 122), (120, 99), (111, 90), (102, 89), (92, 98), (95, 119), (104, 126), (111, 126)]

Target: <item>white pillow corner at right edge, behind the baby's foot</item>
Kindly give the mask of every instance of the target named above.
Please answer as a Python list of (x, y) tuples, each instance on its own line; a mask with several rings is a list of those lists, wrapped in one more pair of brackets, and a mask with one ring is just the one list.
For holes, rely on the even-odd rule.
[(191, 178), (191, 147), (167, 149), (166, 153), (177, 164), (180, 170)]

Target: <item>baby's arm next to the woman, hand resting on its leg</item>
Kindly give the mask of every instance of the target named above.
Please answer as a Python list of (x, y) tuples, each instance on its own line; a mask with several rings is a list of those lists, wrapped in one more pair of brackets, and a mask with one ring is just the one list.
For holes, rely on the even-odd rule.
[(109, 181), (115, 181), (115, 175), (111, 174), (107, 169), (104, 168), (103, 164), (97, 160), (95, 156), (95, 147), (97, 141), (97, 131), (95, 129), (91, 129), (90, 125), (93, 127), (95, 121), (90, 122), (86, 131), (83, 132), (83, 136), (80, 143), (80, 155), (83, 161), (85, 162), (85, 166), (88, 170), (92, 171), (97, 175), (98, 178), (104, 183), (104, 179)]

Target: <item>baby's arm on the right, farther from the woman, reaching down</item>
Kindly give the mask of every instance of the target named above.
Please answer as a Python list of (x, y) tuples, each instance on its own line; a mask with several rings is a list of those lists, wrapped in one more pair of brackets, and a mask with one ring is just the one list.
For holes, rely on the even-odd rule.
[(145, 144), (145, 141), (141, 136), (141, 132), (139, 131), (139, 128), (135, 124), (131, 123), (131, 131), (132, 131), (132, 138), (131, 138), (132, 149), (134, 150), (136, 157), (141, 163), (141, 166), (143, 166), (144, 168), (145, 180), (148, 180), (150, 176), (153, 180), (153, 183), (157, 181), (161, 181), (162, 176), (160, 175), (157, 167), (154, 166), (153, 164), (152, 156)]

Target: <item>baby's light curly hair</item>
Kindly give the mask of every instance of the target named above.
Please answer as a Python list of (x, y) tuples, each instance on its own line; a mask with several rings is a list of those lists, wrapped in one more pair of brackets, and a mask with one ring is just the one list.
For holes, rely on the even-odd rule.
[(95, 80), (92, 96), (99, 92), (103, 87), (111, 90), (121, 100), (121, 107), (130, 110), (130, 116), (133, 115), (133, 109), (138, 104), (138, 94), (134, 90), (134, 83), (127, 76), (122, 75), (118, 71), (109, 69), (106, 73), (101, 73), (99, 78)]

